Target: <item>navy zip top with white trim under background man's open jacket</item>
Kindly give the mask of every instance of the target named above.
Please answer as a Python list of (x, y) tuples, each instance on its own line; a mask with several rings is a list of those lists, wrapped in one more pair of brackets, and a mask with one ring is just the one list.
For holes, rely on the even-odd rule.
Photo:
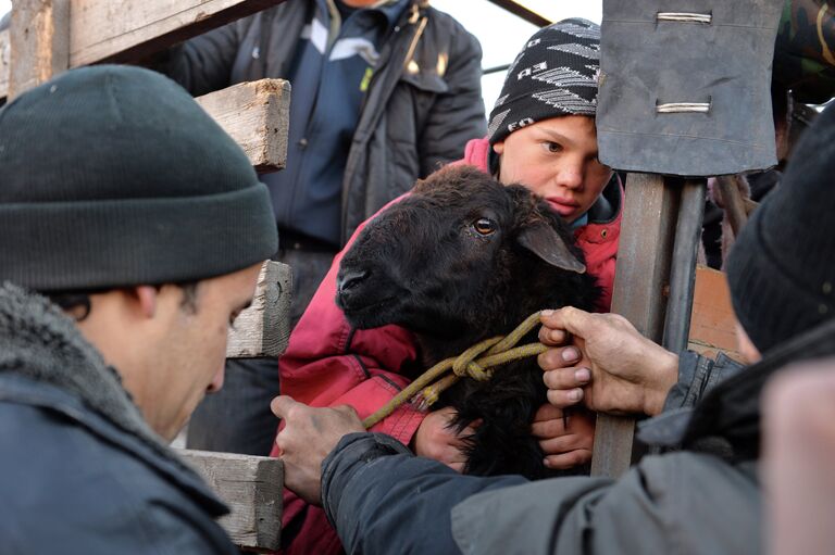
[(351, 139), (378, 52), (406, 4), (352, 9), (316, 0), (288, 75), (287, 168), (262, 176), (281, 228), (339, 244)]

